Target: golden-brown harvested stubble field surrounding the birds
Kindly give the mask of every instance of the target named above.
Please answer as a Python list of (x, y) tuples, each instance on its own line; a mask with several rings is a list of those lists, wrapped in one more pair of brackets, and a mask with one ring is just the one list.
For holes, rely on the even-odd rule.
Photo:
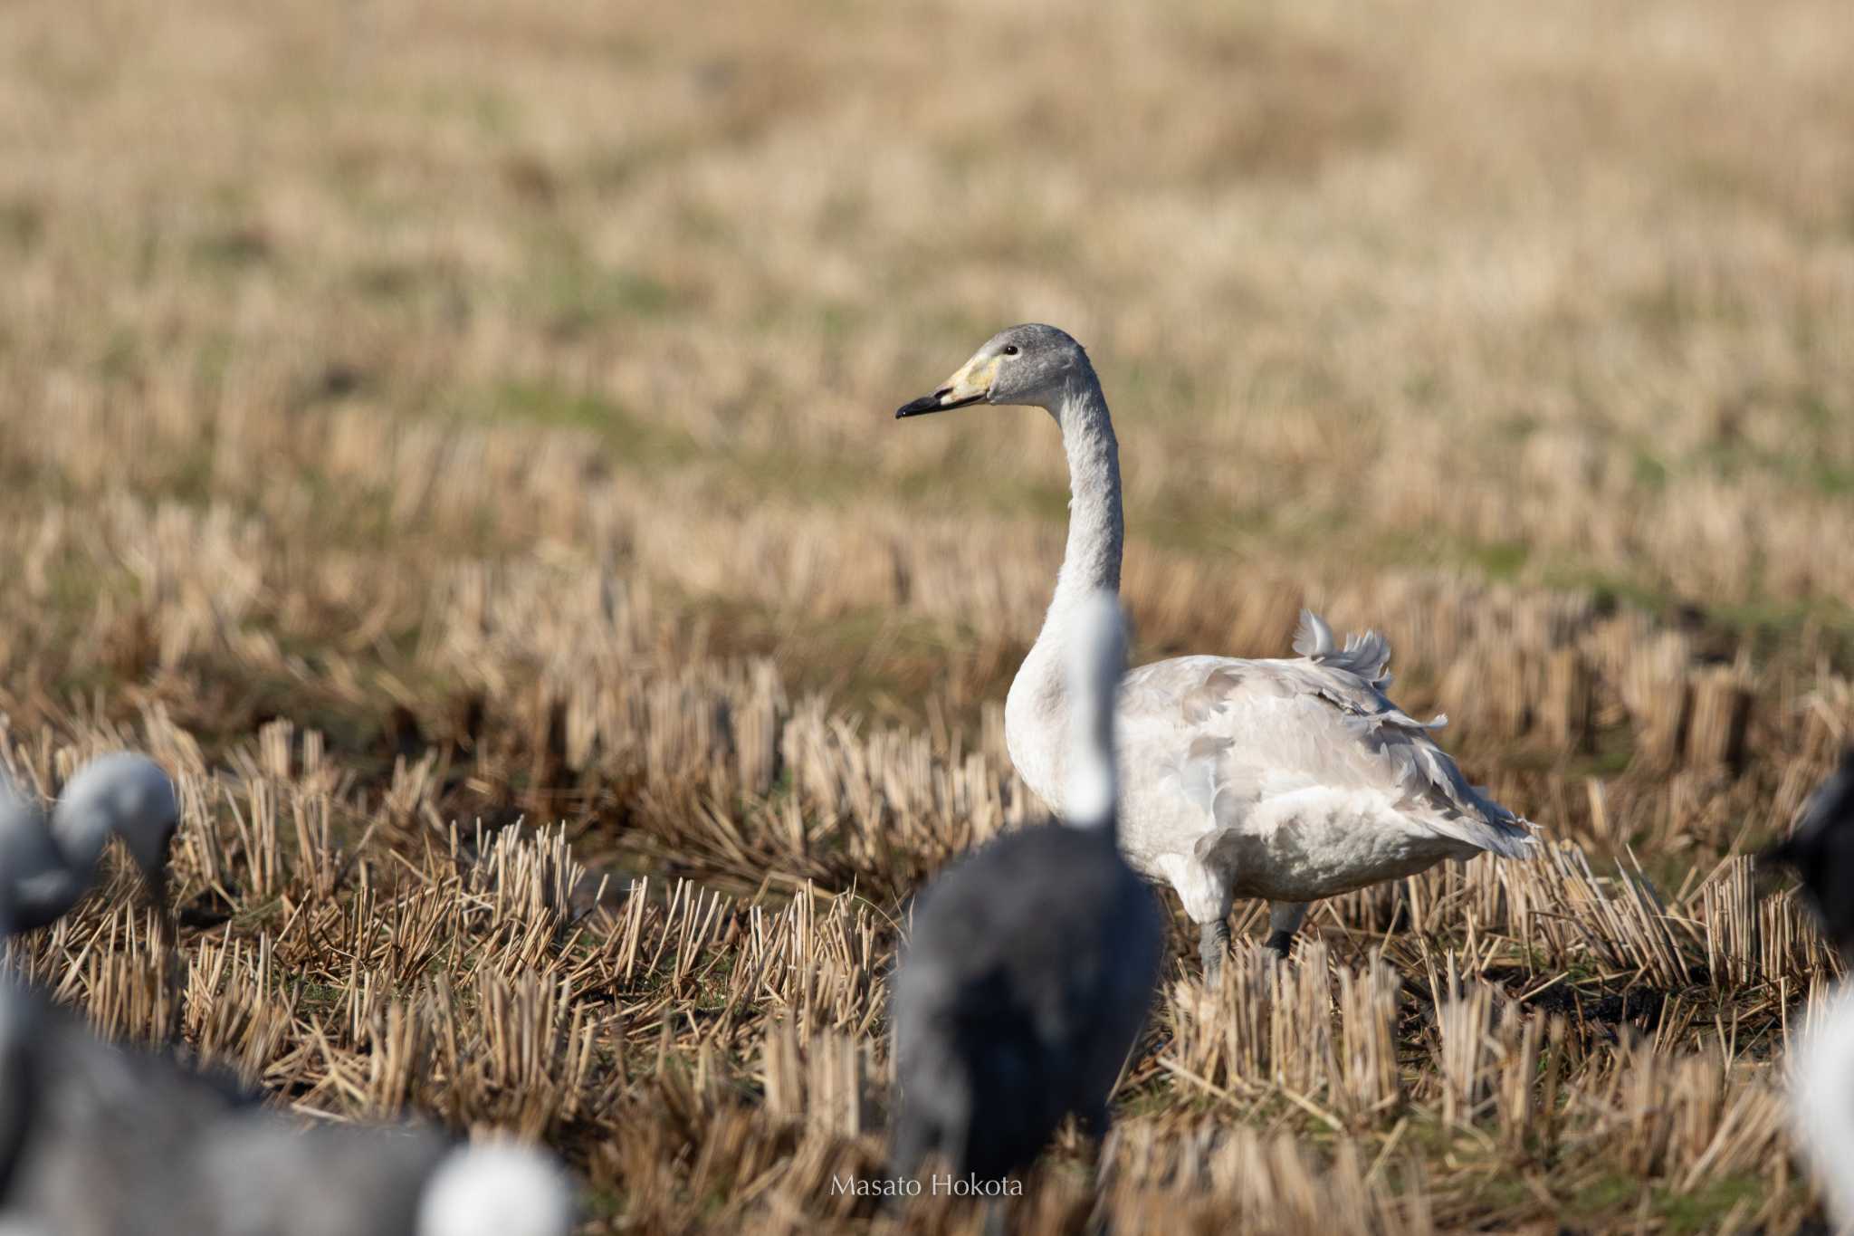
[[(228, 1008), (286, 1012), (137, 1004), (108, 906), (30, 964), (280, 1101), (545, 1136), (593, 1230), (881, 1223), (821, 1182), (879, 1162), (901, 899), (1035, 812), (996, 710), (1066, 510), (1040, 413), (890, 413), (1048, 321), (1116, 413), (1138, 654), (1379, 626), (1596, 873), (1316, 914), (1335, 975), (1389, 941), (1385, 1075), (1344, 999), (1294, 1064), (1181, 978), (1125, 1214), (1795, 1230), (1776, 1051), (1832, 964), (1743, 854), (1854, 725), (1850, 46), (1834, 0), (0, 7), (7, 758), (169, 758), (174, 964), (235, 943)], [(573, 858), (504, 904), (515, 819)], [(473, 947), (356, 943), (434, 888)], [(1507, 999), (1561, 1067), (1517, 1097)], [(532, 1110), (456, 1054), (519, 1010)]]

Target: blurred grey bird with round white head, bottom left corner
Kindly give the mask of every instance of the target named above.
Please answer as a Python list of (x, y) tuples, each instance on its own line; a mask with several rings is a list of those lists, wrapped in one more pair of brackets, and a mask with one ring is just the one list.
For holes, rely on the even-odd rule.
[(0, 1223), (59, 1236), (565, 1236), (573, 1188), (432, 1127), (297, 1129), (0, 980)]

